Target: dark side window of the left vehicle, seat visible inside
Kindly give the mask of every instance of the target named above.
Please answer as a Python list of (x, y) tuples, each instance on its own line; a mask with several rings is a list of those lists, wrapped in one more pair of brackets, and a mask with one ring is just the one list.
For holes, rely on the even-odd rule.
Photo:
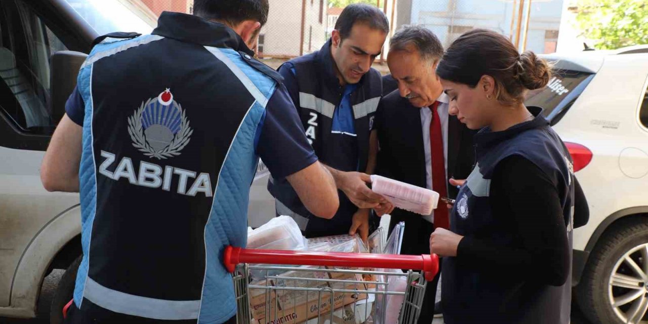
[(67, 48), (22, 0), (0, 2), (0, 111), (31, 133), (51, 133), (50, 57)]

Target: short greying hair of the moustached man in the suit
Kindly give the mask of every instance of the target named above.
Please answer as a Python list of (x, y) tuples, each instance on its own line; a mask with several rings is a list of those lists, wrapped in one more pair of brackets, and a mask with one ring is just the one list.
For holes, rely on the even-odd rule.
[(404, 25), (389, 41), (389, 51), (419, 51), (421, 58), (437, 62), (443, 56), (443, 45), (439, 38), (421, 25)]

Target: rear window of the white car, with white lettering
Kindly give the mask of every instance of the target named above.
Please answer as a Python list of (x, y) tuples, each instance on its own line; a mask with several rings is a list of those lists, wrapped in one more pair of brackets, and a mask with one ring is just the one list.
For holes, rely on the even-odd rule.
[(544, 108), (542, 112), (551, 125), (557, 124), (569, 110), (585, 87), (594, 78), (594, 73), (557, 70), (542, 89), (529, 91), (524, 104)]

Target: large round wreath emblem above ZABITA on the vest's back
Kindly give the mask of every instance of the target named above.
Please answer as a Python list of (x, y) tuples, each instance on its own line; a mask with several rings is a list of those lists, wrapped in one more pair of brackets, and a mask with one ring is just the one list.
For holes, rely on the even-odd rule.
[(173, 100), (170, 89), (142, 102), (128, 117), (128, 134), (133, 146), (156, 159), (179, 156), (193, 132), (185, 111)]

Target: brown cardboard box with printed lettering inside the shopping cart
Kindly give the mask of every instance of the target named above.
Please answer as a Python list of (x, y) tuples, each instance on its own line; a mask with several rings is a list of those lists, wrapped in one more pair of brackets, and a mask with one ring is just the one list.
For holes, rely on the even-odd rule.
[[(353, 273), (329, 274), (313, 269), (286, 272), (279, 277), (295, 277), (295, 279), (271, 279), (268, 282), (275, 287), (272, 290), (249, 288), (252, 316), (260, 324), (298, 324), (304, 323), (308, 319), (318, 318), (318, 316), (328, 319), (331, 312), (331, 288), (366, 290), (365, 284), (308, 281), (308, 279), (332, 279), (332, 277), (338, 280), (362, 280), (360, 275)], [(266, 281), (262, 281), (262, 285), (265, 283)], [(310, 290), (284, 290), (283, 287), (310, 288)], [(266, 292), (270, 294), (269, 298)], [(266, 316), (268, 299), (270, 299), (270, 316)], [(338, 308), (364, 299), (367, 299), (367, 294), (335, 293), (332, 308), (338, 310)]]

